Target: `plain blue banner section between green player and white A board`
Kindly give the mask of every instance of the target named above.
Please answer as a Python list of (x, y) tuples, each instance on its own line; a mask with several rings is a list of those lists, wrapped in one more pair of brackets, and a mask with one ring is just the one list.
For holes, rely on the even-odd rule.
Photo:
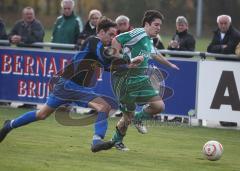
[(172, 95), (164, 100), (166, 114), (188, 115), (189, 110), (195, 109), (197, 61), (170, 60), (180, 70), (156, 64), (166, 72), (165, 85), (172, 90)]

